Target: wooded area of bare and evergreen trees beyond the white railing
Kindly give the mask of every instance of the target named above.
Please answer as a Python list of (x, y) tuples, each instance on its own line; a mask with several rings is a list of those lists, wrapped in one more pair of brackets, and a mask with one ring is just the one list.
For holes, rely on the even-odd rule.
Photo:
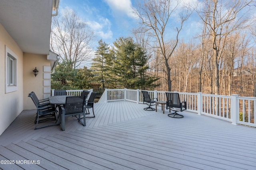
[[(90, 87), (94, 82), (102, 84), (103, 89), (140, 88), (256, 97), (255, 9), (256, 2), (252, 0), (204, 0), (196, 4), (185, 4), (182, 0), (138, 2), (133, 10), (139, 26), (132, 31), (133, 37), (120, 37), (112, 46), (98, 41), (92, 66), (90, 70), (83, 69), (84, 76), (80, 75), (79, 82), (66, 81), (68, 76), (64, 75), (60, 78), (61, 71), (53, 82), (59, 88), (64, 86), (64, 79), (66, 83), (72, 82), (73, 88)], [(74, 13), (70, 14), (76, 18)], [(180, 39), (182, 28), (192, 15), (199, 17), (201, 33), (193, 39)], [(65, 17), (69, 18), (67, 14)], [(93, 48), (89, 42), (94, 37), (82, 34), (90, 30), (86, 25), (81, 27), (81, 23), (78, 32), (70, 29), (74, 32), (67, 33), (62, 22), (58, 19), (54, 22), (51, 49), (59, 52), (66, 66), (79, 68), (83, 61), (88, 61)], [(74, 27), (78, 26), (76, 22), (80, 20), (74, 21)], [(81, 80), (82, 77), (86, 79)]]

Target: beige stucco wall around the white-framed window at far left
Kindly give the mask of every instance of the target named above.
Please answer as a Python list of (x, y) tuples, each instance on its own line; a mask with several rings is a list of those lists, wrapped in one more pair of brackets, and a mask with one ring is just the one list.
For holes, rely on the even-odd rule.
[[(5, 93), (5, 45), (17, 58), (18, 90)], [(8, 32), (0, 24), (0, 135), (23, 110), (23, 53)]]

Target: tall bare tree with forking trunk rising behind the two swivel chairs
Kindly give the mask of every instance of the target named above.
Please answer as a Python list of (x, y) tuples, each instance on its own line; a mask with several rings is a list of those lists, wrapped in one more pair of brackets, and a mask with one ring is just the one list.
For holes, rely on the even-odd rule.
[[(178, 45), (178, 35), (182, 30), (183, 23), (191, 14), (188, 6), (182, 6), (181, 2), (181, 0), (175, 2), (172, 0), (144, 0), (144, 4), (138, 2), (134, 8), (134, 13), (140, 19), (140, 29), (137, 30), (148, 33), (152, 41), (158, 43), (158, 48), (160, 49), (166, 66), (168, 91), (172, 90), (169, 59)], [(176, 16), (179, 16), (179, 23), (175, 22), (176, 18), (174, 19), (174, 17)], [(170, 41), (170, 39), (166, 38), (167, 33), (170, 33), (166, 32), (166, 29), (169, 28), (170, 25), (175, 27), (173, 31), (175, 35), (174, 41)], [(168, 42), (171, 44), (170, 48), (166, 47), (166, 43)]]

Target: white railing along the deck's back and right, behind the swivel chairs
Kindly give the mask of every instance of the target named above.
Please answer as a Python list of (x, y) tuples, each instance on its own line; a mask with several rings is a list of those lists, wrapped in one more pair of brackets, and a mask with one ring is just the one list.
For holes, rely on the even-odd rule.
[[(157, 90), (146, 90), (150, 98), (166, 101), (166, 94)], [(222, 96), (202, 93), (179, 92), (180, 100), (186, 101), (187, 111), (208, 115), (232, 124), (242, 124), (256, 127), (256, 98), (239, 97), (238, 95)], [(141, 90), (105, 89), (104, 100), (99, 102), (113, 102), (126, 100), (143, 103)]]

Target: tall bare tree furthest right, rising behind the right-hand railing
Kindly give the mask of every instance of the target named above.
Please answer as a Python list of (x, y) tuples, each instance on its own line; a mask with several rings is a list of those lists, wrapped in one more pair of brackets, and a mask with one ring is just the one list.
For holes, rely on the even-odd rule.
[[(207, 25), (211, 36), (214, 59), (214, 91), (219, 94), (219, 64), (227, 36), (245, 26), (246, 12), (243, 11), (252, 0), (205, 0), (198, 15)], [(249, 7), (249, 6), (248, 6)]]

